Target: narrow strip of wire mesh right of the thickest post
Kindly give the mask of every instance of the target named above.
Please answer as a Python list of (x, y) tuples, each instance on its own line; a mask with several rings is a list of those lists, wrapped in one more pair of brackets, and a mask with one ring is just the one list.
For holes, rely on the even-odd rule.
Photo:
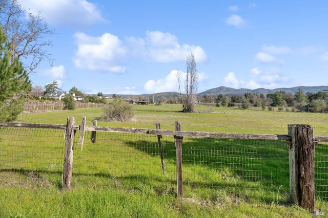
[(316, 146), (314, 159), (315, 197), (328, 200), (328, 143)]

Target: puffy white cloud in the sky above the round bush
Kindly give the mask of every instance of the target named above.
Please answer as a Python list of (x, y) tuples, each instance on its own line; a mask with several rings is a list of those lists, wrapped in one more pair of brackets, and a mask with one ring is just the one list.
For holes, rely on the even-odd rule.
[(77, 51), (73, 62), (77, 68), (92, 71), (122, 73), (125, 67), (118, 64), (127, 50), (117, 36), (105, 33), (100, 37), (75, 33)]

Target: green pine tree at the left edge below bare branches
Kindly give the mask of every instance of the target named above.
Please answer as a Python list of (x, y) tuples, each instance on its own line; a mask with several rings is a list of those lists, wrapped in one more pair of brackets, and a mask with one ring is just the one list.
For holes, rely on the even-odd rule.
[(0, 121), (13, 121), (23, 111), (24, 99), (32, 86), (17, 57), (11, 58), (10, 44), (0, 28)]

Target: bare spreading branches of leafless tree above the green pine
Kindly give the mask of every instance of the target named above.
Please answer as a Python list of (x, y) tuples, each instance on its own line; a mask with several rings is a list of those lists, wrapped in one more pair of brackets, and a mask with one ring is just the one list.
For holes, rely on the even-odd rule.
[(0, 25), (10, 42), (11, 60), (17, 57), (30, 74), (43, 59), (52, 64), (51, 54), (44, 47), (52, 46), (46, 37), (54, 34), (47, 27), (41, 12), (27, 12), (17, 0), (0, 0)]

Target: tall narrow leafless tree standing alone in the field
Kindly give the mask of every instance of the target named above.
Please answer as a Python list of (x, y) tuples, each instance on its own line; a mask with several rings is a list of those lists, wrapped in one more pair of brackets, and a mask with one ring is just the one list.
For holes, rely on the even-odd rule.
[(197, 90), (198, 90), (198, 73), (196, 69), (196, 60), (194, 53), (190, 53), (187, 56), (187, 72), (185, 78), (185, 93), (182, 93), (181, 88), (181, 72), (177, 71), (176, 73), (177, 81), (178, 81), (178, 91), (179, 91), (179, 99), (182, 104), (183, 110), (182, 112), (192, 113), (194, 112), (194, 107), (197, 100)]

